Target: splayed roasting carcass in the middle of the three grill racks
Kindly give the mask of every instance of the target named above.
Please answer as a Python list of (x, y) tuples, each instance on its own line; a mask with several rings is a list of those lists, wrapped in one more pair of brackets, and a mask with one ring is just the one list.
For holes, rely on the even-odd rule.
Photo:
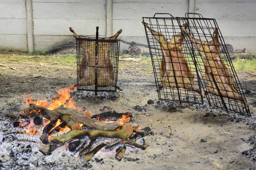
[(147, 27), (152, 36), (159, 42), (163, 54), (160, 64), (162, 84), (160, 84), (158, 91), (162, 87), (181, 87), (194, 90), (201, 95), (200, 90), (194, 84), (194, 76), (183, 54), (184, 38), (181, 32), (172, 36), (169, 41), (163, 33), (156, 32), (148, 27), (148, 23), (142, 22), (142, 24)]

